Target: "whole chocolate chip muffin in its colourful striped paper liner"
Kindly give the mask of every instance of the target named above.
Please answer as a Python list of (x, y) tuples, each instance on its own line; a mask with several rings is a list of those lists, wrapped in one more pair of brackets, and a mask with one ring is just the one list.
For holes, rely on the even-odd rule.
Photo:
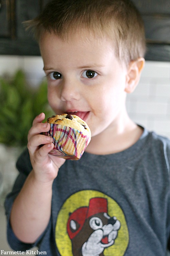
[(91, 140), (91, 132), (84, 120), (77, 115), (62, 114), (49, 117), (49, 132), (54, 148), (49, 153), (65, 159), (79, 160)]

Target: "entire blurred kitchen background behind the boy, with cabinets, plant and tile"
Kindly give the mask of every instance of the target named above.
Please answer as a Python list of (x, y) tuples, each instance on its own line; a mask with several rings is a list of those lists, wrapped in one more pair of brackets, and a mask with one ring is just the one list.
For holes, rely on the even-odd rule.
[[(47, 2), (0, 0), (0, 250), (4, 251), (12, 251), (6, 242), (3, 203), (17, 175), (16, 159), (27, 143), (34, 116), (51, 113), (39, 48), (22, 24), (36, 17)], [(148, 51), (139, 85), (127, 97), (127, 109), (137, 124), (170, 138), (170, 1), (134, 3), (145, 23)]]

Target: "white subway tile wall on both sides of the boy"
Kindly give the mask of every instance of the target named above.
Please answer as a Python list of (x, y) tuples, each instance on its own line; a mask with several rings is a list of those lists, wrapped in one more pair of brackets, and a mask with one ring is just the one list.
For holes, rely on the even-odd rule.
[[(44, 78), (41, 57), (0, 56), (0, 75), (23, 69), (31, 86)], [(130, 117), (139, 125), (170, 138), (170, 62), (146, 61), (140, 82), (127, 95)]]

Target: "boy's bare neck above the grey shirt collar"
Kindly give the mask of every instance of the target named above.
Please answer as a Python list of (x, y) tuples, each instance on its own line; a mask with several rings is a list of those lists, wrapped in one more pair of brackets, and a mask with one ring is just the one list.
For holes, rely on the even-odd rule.
[(142, 133), (143, 129), (136, 125), (128, 114), (125, 114), (123, 120), (119, 120), (116, 126), (113, 125), (92, 137), (86, 152), (107, 155), (124, 151), (135, 144)]

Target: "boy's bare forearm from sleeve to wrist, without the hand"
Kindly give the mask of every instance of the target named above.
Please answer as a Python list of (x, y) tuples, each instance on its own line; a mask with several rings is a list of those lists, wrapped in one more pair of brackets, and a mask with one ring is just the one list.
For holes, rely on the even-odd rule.
[(11, 226), (24, 243), (34, 243), (46, 229), (51, 214), (52, 183), (43, 184), (32, 171), (14, 201)]

